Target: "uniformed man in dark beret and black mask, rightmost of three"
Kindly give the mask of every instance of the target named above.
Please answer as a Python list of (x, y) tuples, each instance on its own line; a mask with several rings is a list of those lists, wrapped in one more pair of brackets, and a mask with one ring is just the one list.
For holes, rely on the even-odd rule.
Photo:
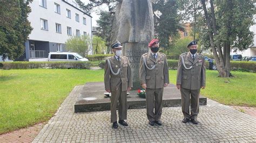
[(200, 89), (205, 89), (205, 59), (204, 55), (197, 53), (196, 41), (190, 42), (187, 48), (190, 52), (179, 57), (176, 84), (181, 93), (183, 123), (198, 124), (199, 93)]

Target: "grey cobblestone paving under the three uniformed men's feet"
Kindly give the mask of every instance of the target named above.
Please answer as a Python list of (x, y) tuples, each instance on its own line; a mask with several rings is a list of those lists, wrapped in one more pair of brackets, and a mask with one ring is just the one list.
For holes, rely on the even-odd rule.
[(163, 126), (147, 124), (146, 109), (128, 110), (129, 126), (111, 128), (110, 112), (74, 113), (77, 86), (33, 142), (256, 141), (256, 118), (208, 99), (200, 106), (199, 124), (181, 123), (181, 107), (163, 108)]

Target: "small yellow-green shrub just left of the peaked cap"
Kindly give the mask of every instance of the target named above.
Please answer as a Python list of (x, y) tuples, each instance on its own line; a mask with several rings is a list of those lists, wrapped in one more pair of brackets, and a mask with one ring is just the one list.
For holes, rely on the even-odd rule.
[(103, 41), (100, 37), (93, 36), (92, 46), (94, 54), (104, 54), (104, 52), (106, 52), (105, 41)]

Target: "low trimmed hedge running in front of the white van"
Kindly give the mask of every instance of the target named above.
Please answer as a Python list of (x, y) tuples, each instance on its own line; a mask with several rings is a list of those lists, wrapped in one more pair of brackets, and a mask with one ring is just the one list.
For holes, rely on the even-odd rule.
[[(1, 62), (3, 69), (76, 68), (90, 69), (91, 62)], [(0, 63), (0, 65), (1, 65)]]

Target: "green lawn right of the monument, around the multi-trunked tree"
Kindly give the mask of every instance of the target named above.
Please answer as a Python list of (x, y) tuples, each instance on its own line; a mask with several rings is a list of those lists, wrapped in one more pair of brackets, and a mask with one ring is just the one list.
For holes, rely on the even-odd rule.
[[(169, 70), (170, 81), (176, 84), (177, 70)], [(256, 107), (256, 74), (231, 72), (235, 77), (221, 78), (216, 70), (206, 70), (206, 88), (201, 94), (225, 105)]]

